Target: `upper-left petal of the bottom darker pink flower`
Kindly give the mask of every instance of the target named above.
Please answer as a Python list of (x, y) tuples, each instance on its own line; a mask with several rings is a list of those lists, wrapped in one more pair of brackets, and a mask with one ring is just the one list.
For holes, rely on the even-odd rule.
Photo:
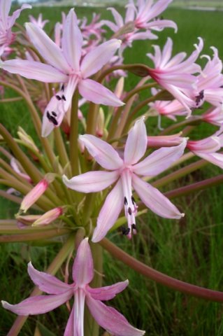
[(45, 293), (62, 294), (67, 290), (71, 290), (71, 286), (60, 281), (55, 276), (45, 272), (39, 272), (31, 265), (31, 262), (28, 264), (28, 273), (35, 285)]

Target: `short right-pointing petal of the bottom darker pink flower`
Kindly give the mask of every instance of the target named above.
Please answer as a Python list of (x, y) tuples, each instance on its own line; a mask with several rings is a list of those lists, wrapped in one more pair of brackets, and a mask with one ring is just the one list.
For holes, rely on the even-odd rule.
[(116, 294), (122, 292), (127, 288), (129, 280), (117, 282), (112, 286), (106, 286), (101, 288), (88, 288), (87, 291), (91, 297), (95, 300), (106, 301), (113, 299)]

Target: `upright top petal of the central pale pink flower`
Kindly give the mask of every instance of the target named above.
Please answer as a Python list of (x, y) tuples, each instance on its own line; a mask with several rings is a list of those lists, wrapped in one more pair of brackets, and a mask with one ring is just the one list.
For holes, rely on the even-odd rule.
[(137, 120), (134, 127), (129, 131), (127, 143), (124, 148), (124, 162), (134, 165), (145, 154), (147, 148), (147, 134), (144, 117)]

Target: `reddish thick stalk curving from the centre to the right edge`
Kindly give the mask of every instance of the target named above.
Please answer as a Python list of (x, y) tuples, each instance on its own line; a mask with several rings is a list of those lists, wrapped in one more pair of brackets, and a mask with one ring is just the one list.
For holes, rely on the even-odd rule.
[(149, 267), (143, 262), (136, 260), (131, 257), (128, 253), (121, 250), (121, 248), (115, 246), (115, 244), (111, 243), (108, 239), (104, 238), (100, 241), (100, 244), (103, 248), (105, 248), (110, 254), (112, 254), (118, 260), (124, 262), (125, 265), (128, 265), (136, 272), (143, 274), (149, 279), (152, 279), (158, 283), (161, 283), (164, 286), (172, 288), (174, 290), (178, 290), (179, 292), (189, 294), (195, 297), (200, 297), (205, 300), (210, 300), (214, 302), (223, 302), (223, 292), (219, 292), (217, 290), (211, 290), (208, 288), (203, 288), (199, 286), (192, 285), (191, 283), (187, 283), (171, 276), (168, 276), (164, 273), (158, 272), (157, 270)]

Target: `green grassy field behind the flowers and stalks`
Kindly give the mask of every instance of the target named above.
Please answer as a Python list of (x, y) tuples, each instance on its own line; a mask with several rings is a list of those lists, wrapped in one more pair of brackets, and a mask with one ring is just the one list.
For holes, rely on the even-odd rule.
[[(60, 20), (61, 10), (68, 8), (44, 8), (44, 18), (52, 22)], [(90, 16), (93, 9), (76, 8), (79, 17)], [(110, 18), (105, 9), (96, 8), (103, 18)], [(34, 8), (33, 15), (41, 12), (41, 8)], [(22, 14), (21, 22), (27, 20), (28, 10)], [(126, 63), (145, 62), (148, 64), (146, 52), (150, 52), (152, 43), (164, 45), (167, 36), (174, 40), (174, 52), (187, 50), (192, 52), (193, 43), (197, 36), (205, 41), (204, 53), (211, 54), (210, 45), (215, 45), (223, 59), (222, 45), (222, 12), (197, 12), (171, 8), (166, 10), (165, 18), (174, 20), (178, 24), (178, 34), (166, 29), (159, 34), (159, 41), (136, 42), (134, 47), (126, 53)], [(51, 25), (51, 26), (50, 26)], [(52, 23), (48, 31), (52, 29)], [(133, 87), (136, 78), (130, 76), (127, 89)], [(22, 124), (31, 131), (26, 123), (29, 112), (23, 104), (0, 106), (0, 120), (15, 134), (17, 126)], [(156, 132), (157, 121), (149, 123), (149, 132)], [(201, 127), (203, 134), (207, 128)], [(208, 166), (199, 172), (187, 176), (179, 181), (180, 185), (200, 181), (220, 174), (221, 169)], [(167, 186), (166, 190), (176, 185)], [(185, 212), (186, 216), (180, 221), (164, 220), (148, 211), (145, 218), (138, 218), (138, 235), (133, 241), (120, 237), (117, 232), (110, 235), (110, 239), (124, 250), (144, 261), (147, 265), (161, 272), (175, 276), (183, 281), (206, 286), (216, 290), (223, 288), (223, 227), (222, 227), (222, 197), (221, 186), (202, 193), (190, 195), (174, 200), (174, 203)], [(1, 200), (0, 218), (13, 217), (16, 211), (10, 202)], [(32, 283), (27, 277), (27, 261), (30, 259), (38, 269), (45, 269), (52, 260), (59, 244), (54, 246), (27, 246), (10, 244), (0, 246), (1, 267), (1, 299), (8, 302), (20, 302), (27, 297)], [(22, 258), (21, 258), (22, 255)], [(194, 297), (174, 292), (154, 281), (145, 279), (125, 267), (118, 260), (114, 260), (108, 253), (104, 253), (104, 283), (129, 279), (129, 288), (110, 302), (117, 307), (128, 320), (138, 328), (145, 329), (151, 336), (220, 336), (223, 335), (222, 304), (206, 302)], [(62, 335), (66, 325), (68, 313), (66, 307), (60, 307), (43, 316), (31, 316), (24, 325), (20, 335), (34, 335), (36, 319), (45, 325), (55, 335)], [(15, 315), (1, 309), (0, 335), (12, 325)], [(50, 335), (46, 331), (43, 335)], [(93, 335), (94, 336), (94, 335)]]

